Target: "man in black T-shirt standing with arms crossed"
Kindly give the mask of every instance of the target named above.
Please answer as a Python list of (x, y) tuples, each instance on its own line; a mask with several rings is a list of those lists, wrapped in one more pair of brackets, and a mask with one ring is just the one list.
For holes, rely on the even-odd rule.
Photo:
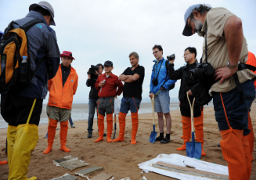
[(145, 76), (145, 69), (139, 66), (139, 55), (137, 52), (131, 52), (129, 55), (132, 67), (124, 70), (119, 76), (120, 81), (124, 81), (124, 92), (121, 100), (121, 108), (118, 116), (119, 136), (114, 142), (124, 141), (125, 117), (129, 110), (132, 115), (132, 144), (136, 144), (136, 134), (139, 127), (139, 105), (142, 100), (142, 84)]

